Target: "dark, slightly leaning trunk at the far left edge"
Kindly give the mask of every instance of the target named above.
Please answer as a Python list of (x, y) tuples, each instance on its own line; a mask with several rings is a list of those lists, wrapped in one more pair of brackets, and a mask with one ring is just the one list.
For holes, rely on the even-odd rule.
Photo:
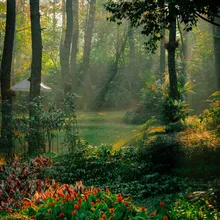
[(11, 64), (15, 35), (16, 0), (7, 0), (6, 31), (1, 62), (1, 96), (2, 96), (2, 144), (0, 151), (12, 153), (12, 91)]

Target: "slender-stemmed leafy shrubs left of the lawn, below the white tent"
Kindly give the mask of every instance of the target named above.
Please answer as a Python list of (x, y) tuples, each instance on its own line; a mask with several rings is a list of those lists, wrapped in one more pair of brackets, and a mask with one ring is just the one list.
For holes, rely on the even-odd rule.
[[(15, 144), (19, 143), (22, 151), (26, 153), (26, 141), (35, 140), (35, 137), (30, 135), (29, 123), (32, 120), (39, 120), (39, 127), (35, 129), (35, 133), (40, 135), (41, 152), (46, 152), (46, 145), (48, 150), (51, 151), (53, 139), (60, 131), (63, 133), (62, 146), (66, 146), (69, 151), (73, 151), (75, 147), (80, 145), (75, 115), (75, 98), (74, 94), (67, 94), (61, 106), (48, 101), (47, 97), (38, 97), (39, 104), (26, 101), (18, 102), (14, 113), (17, 113), (19, 117), (13, 119)], [(45, 106), (46, 102), (47, 106)], [(35, 108), (37, 117), (28, 119), (26, 114), (30, 105)]]

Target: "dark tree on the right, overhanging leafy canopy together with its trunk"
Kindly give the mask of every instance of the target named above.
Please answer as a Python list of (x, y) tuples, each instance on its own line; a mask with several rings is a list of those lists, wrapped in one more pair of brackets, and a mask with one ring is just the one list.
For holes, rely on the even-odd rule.
[[(167, 7), (163, 7), (164, 4)], [(213, 21), (218, 14), (220, 2), (218, 1), (199, 1), (199, 0), (109, 0), (105, 4), (107, 10), (111, 12), (110, 21), (121, 22), (122, 19), (129, 19), (133, 26), (141, 26), (142, 34), (148, 36), (146, 42), (149, 51), (155, 51), (156, 42), (161, 40), (161, 30), (169, 28), (168, 49), (168, 69), (170, 82), (170, 97), (173, 100), (179, 99), (177, 89), (177, 77), (175, 70), (175, 50), (176, 43), (176, 18), (179, 17), (181, 22), (185, 24), (187, 31), (192, 30), (198, 22), (198, 18), (202, 18), (209, 23), (220, 26)], [(205, 15), (205, 16), (204, 16)], [(173, 106), (174, 107), (174, 106)], [(175, 108), (170, 108), (170, 112)]]

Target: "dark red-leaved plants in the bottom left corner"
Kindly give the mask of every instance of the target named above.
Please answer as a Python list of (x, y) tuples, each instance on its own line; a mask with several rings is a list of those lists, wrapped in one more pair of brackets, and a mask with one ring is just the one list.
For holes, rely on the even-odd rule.
[(30, 201), (36, 190), (44, 190), (42, 171), (49, 166), (51, 160), (44, 157), (0, 165), (0, 212), (17, 211)]

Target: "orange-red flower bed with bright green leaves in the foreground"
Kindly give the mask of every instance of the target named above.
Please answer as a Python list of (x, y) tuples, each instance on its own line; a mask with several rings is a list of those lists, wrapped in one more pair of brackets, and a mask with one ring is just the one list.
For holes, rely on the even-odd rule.
[[(109, 190), (52, 182), (45, 192), (36, 192), (23, 213), (36, 219), (147, 219), (146, 208), (137, 208), (129, 198)], [(78, 188), (80, 186), (80, 188)], [(33, 215), (34, 213), (34, 215)]]

